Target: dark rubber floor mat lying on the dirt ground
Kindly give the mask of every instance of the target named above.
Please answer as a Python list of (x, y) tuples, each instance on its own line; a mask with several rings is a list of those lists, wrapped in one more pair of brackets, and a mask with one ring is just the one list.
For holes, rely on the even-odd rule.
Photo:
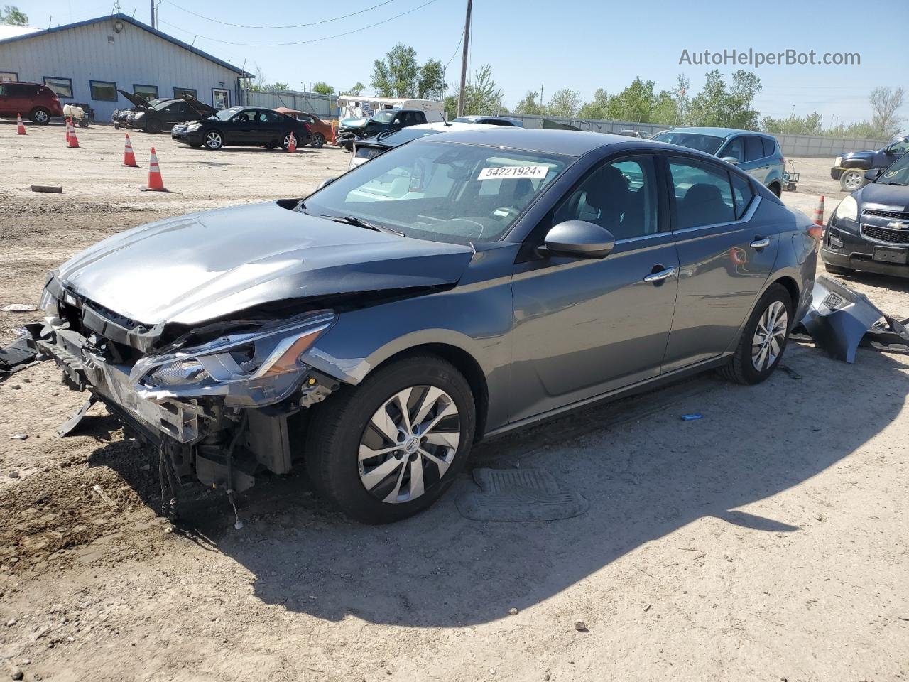
[(480, 492), (456, 499), (461, 516), (474, 521), (558, 521), (587, 511), (587, 500), (545, 469), (474, 469), (474, 481)]

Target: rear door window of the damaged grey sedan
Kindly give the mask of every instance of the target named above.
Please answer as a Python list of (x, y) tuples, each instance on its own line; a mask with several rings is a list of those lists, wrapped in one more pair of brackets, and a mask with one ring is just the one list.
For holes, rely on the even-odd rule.
[(729, 174), (704, 161), (670, 157), (675, 199), (675, 230), (720, 225), (735, 220)]

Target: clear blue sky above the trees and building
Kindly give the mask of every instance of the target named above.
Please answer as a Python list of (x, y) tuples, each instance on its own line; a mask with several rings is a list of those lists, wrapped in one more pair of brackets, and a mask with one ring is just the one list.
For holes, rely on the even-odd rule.
[[(424, 61), (435, 57), (446, 64), (447, 81), (457, 80), (458, 41), (464, 25), (465, 0), (434, 0), (429, 5), (388, 23), (344, 37), (305, 45), (245, 46), (315, 40), (375, 24), (413, 10), (426, 0), (390, 0), (361, 15), (303, 28), (239, 28), (189, 14), (239, 25), (299, 25), (320, 22), (377, 5), (382, 0), (344, 3), (303, 3), (272, 0), (160, 0), (161, 30), (193, 42), (215, 56), (246, 67), (258, 65), (269, 81), (292, 87), (326, 81), (345, 88), (361, 81), (368, 85), (373, 60), (397, 42), (413, 45)], [(120, 0), (122, 11), (145, 23), (147, 0)], [(114, 0), (96, 4), (72, 0), (19, 0), (30, 24), (62, 25), (110, 13)], [(308, 9), (304, 11), (303, 7)], [(684, 72), (696, 92), (704, 74), (714, 66), (679, 65), (689, 54), (749, 48), (765, 53), (787, 48), (818, 56), (859, 52), (861, 65), (764, 65), (756, 71), (764, 92), (755, 101), (762, 115), (824, 115), (824, 125), (850, 123), (870, 117), (867, 95), (875, 85), (901, 85), (909, 90), (909, 58), (903, 41), (909, 25), (909, 3), (881, 0), (863, 5), (828, 0), (823, 3), (780, 3), (758, 9), (753, 3), (707, 0), (684, 5), (561, 0), (474, 0), (470, 65), (493, 66), (504, 90), (504, 105), (514, 105), (527, 90), (544, 87), (544, 96), (569, 87), (589, 99), (597, 87), (615, 93), (634, 76), (655, 81), (657, 88), (674, 87)], [(629, 7), (632, 7), (629, 10)], [(853, 26), (858, 20), (859, 25)], [(875, 28), (877, 26), (878, 28)], [(887, 28), (889, 27), (889, 28)], [(886, 37), (887, 31), (895, 33)], [(857, 40), (868, 35), (870, 40)], [(876, 37), (874, 37), (876, 36)], [(452, 58), (454, 55), (454, 58)], [(721, 65), (729, 74), (750, 66)], [(367, 90), (368, 92), (368, 90)], [(909, 117), (909, 105), (901, 115)]]

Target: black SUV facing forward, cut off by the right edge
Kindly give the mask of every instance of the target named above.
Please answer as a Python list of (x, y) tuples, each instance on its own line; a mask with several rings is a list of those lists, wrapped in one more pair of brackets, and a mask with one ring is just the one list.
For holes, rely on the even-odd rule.
[(837, 275), (855, 270), (909, 277), (909, 154), (865, 172), (868, 184), (846, 196), (824, 234), (821, 260)]

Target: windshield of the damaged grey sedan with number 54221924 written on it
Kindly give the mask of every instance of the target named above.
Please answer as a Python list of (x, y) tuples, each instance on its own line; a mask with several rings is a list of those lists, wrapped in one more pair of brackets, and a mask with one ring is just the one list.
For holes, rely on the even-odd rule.
[(417, 239), (494, 242), (573, 160), (417, 140), (339, 177), (302, 210), (353, 216)]

